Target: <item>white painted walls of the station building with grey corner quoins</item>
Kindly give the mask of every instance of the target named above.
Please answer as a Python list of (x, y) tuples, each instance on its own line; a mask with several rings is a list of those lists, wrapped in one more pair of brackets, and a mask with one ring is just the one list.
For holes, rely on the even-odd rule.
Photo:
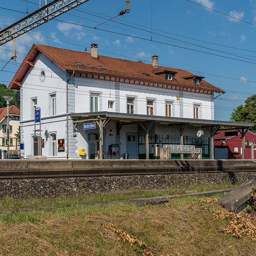
[[(42, 71), (44, 71), (44, 76)], [(34, 62), (34, 67), (30, 68), (23, 80), (20, 90), (21, 142), (25, 143), (25, 158), (34, 154), (32, 136), (34, 135), (35, 104), (41, 108), (42, 139), (45, 140), (42, 155), (46, 155), (48, 158), (66, 158), (66, 147), (65, 152), (58, 152), (58, 140), (65, 140), (66, 144), (66, 81), (69, 76), (40, 53)], [(94, 103), (91, 102), (92, 96), (98, 97), (97, 100), (94, 99)], [(94, 104), (94, 111), (127, 113), (127, 98), (134, 99), (134, 114), (147, 115), (147, 100), (151, 100), (153, 101), (154, 116), (166, 116), (166, 105), (168, 104), (172, 117), (194, 118), (194, 107), (198, 106), (199, 119), (214, 119), (213, 92), (206, 94), (106, 81), (103, 77), (99, 79), (86, 78), (83, 74), (79, 74), (79, 76), (75, 74), (68, 83), (69, 114), (91, 112), (91, 104)], [(39, 129), (39, 125), (36, 129)], [(177, 133), (173, 128), (170, 128), (170, 132)], [(74, 134), (72, 120), (69, 117), (69, 158), (90, 158), (90, 133), (98, 134), (99, 130), (85, 131), (80, 123)], [(137, 124), (122, 127), (119, 137), (116, 136), (116, 123), (109, 122), (104, 128), (102, 136), (105, 159), (108, 146), (111, 144), (120, 144), (119, 155), (126, 153), (128, 150), (127, 136), (133, 134), (136, 136), (136, 140), (139, 140)], [(86, 156), (80, 156), (79, 149), (85, 149)], [(130, 158), (138, 158), (138, 150), (136, 150), (133, 150), (135, 155)]]

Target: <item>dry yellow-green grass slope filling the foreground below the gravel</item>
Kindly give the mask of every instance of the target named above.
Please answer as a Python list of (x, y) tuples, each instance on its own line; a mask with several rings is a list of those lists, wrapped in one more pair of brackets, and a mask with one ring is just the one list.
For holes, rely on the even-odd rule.
[(164, 205), (141, 207), (114, 203), (4, 213), (0, 215), (0, 255), (145, 253), (138, 243), (132, 247), (117, 233), (104, 228), (103, 223), (126, 231), (158, 255), (255, 255), (254, 241), (222, 232), (228, 221), (213, 219), (219, 206), (204, 201), (194, 205), (193, 200), (180, 198)]

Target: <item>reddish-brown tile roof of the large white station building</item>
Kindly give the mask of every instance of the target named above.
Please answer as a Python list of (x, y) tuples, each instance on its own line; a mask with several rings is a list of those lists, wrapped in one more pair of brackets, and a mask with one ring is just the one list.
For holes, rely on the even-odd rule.
[[(185, 88), (195, 88), (204, 91), (225, 93), (225, 91), (213, 86), (205, 80), (202, 80), (201, 84), (193, 84), (191, 81), (184, 79), (183, 77), (195, 76), (186, 70), (159, 66), (159, 70), (177, 72), (175, 75), (175, 81), (170, 81), (164, 79), (159, 74), (154, 73), (155, 69), (152, 67), (152, 64), (129, 61), (126, 59), (117, 59), (102, 55), (98, 55), (98, 59), (93, 59), (91, 58), (91, 54), (88, 52), (73, 51), (38, 44), (34, 44), (30, 49), (28, 55), (24, 59), (12, 82), (10, 83), (8, 87), (9, 89), (20, 88), (23, 78), (30, 69), (29, 62), (33, 64), (33, 61), (35, 61), (40, 52), (55, 62), (59, 68), (66, 72), (75, 70), (76, 72), (80, 73), (102, 74), (105, 76), (135, 79), (145, 82), (152, 81), (154, 83), (165, 85), (181, 85)], [(82, 66), (74, 63), (75, 61), (81, 63)], [(88, 64), (91, 64), (93, 68), (88, 66)], [(103, 66), (106, 69), (102, 69), (99, 66)]]

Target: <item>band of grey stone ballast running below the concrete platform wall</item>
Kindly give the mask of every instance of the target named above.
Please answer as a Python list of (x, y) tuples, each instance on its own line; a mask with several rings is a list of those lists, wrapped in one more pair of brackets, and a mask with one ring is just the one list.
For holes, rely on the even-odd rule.
[(221, 185), (256, 179), (254, 172), (130, 175), (100, 178), (66, 178), (0, 181), (0, 198), (50, 198), (61, 195), (89, 195), (132, 189), (163, 189), (191, 185)]

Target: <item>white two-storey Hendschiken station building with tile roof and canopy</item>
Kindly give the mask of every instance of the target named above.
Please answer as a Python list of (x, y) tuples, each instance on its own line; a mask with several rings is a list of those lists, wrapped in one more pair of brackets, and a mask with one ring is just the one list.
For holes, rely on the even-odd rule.
[(209, 159), (220, 126), (253, 124), (215, 121), (214, 93), (225, 92), (203, 78), (159, 66), (158, 56), (147, 64), (98, 55), (95, 44), (91, 53), (34, 44), (8, 88), (20, 90), (25, 158), (38, 154), (40, 107), (48, 158), (94, 159), (99, 150), (105, 159), (145, 159), (153, 158), (153, 144), (185, 144)]

